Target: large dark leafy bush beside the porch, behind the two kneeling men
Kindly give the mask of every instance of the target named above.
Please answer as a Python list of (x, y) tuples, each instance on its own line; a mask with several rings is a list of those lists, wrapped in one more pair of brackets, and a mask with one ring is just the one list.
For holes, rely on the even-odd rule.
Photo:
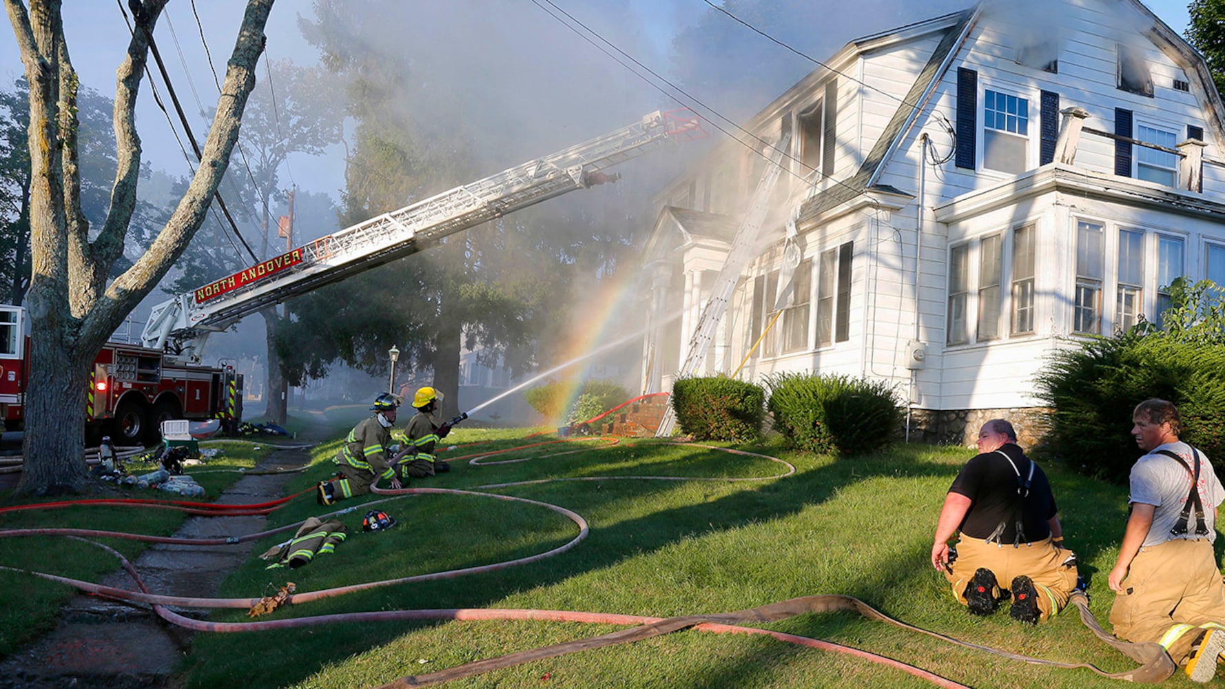
[(1140, 451), (1132, 411), (1149, 397), (1178, 407), (1181, 439), (1225, 470), (1225, 347), (1160, 331), (1090, 340), (1050, 356), (1038, 376), (1055, 411), (1050, 440), (1073, 470), (1126, 482)]

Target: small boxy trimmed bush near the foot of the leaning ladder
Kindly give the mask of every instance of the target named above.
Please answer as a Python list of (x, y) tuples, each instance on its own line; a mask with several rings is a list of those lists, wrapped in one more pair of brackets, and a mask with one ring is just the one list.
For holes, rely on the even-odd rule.
[(730, 378), (685, 378), (673, 384), (681, 432), (699, 440), (748, 441), (761, 436), (766, 391)]

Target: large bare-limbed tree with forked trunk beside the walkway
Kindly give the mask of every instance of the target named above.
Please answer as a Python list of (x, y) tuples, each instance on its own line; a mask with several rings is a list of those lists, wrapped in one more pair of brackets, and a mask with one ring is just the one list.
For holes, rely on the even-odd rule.
[(149, 42), (167, 0), (134, 2), (135, 28), (116, 74), (116, 172), (109, 210), (91, 242), (82, 213), (78, 81), (60, 2), (5, 0), (29, 83), (31, 375), (26, 392), (24, 471), (18, 493), (78, 490), (85, 482), (86, 391), (99, 348), (183, 255), (203, 222), (238, 140), (263, 27), (273, 0), (249, 0), (202, 161), (174, 212), (131, 267), (109, 281), (136, 208), (141, 141), (135, 105)]

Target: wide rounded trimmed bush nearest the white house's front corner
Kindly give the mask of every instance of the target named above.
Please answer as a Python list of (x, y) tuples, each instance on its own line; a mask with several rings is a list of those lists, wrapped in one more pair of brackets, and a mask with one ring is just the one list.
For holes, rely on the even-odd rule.
[(774, 430), (817, 454), (861, 455), (893, 441), (902, 406), (884, 381), (845, 375), (780, 373), (766, 380)]

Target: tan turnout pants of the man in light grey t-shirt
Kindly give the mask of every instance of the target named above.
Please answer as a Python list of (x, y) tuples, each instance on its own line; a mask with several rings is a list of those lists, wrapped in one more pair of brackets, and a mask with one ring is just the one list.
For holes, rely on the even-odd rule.
[(1115, 595), (1110, 624), (1115, 636), (1156, 641), (1182, 662), (1199, 638), (1200, 625), (1225, 623), (1225, 586), (1207, 538), (1176, 538), (1140, 548)]

